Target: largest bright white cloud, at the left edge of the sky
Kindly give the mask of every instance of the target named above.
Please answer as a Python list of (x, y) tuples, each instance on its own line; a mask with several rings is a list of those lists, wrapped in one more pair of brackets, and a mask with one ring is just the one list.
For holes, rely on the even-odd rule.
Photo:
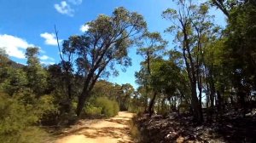
[(25, 59), (25, 50), (27, 47), (34, 47), (27, 43), (25, 39), (8, 34), (0, 35), (0, 47), (4, 48), (9, 56)]

